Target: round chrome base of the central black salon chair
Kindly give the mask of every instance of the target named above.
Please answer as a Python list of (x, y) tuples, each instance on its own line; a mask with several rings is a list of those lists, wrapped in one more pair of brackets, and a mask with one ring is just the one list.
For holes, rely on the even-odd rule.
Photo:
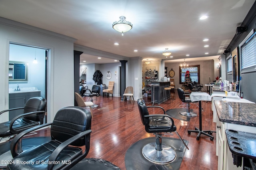
[(156, 150), (156, 143), (149, 143), (142, 148), (143, 156), (154, 164), (170, 164), (176, 159), (176, 152), (162, 143), (162, 150)]

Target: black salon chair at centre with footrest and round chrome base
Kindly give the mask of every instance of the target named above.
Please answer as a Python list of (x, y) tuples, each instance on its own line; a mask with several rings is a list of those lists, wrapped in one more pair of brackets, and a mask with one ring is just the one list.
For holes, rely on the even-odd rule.
[[(140, 118), (145, 130), (148, 133), (156, 135), (156, 142), (149, 143), (142, 148), (143, 156), (150, 162), (155, 164), (168, 164), (175, 160), (176, 152), (170, 146), (162, 143), (162, 133), (176, 132), (182, 143), (188, 149), (188, 146), (181, 139), (176, 131), (174, 120), (165, 114), (164, 108), (160, 106), (146, 106), (143, 99), (137, 100)], [(163, 110), (164, 114), (150, 115), (147, 107), (158, 107)]]

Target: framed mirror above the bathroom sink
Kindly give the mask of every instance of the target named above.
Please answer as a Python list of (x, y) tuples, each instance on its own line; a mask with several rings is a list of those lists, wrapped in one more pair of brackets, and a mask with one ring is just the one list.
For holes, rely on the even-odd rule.
[(9, 61), (9, 81), (28, 81), (28, 63)]

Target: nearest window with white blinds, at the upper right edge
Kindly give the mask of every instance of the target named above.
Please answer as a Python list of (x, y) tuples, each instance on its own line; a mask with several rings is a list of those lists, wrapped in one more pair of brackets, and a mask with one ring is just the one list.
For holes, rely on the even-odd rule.
[(240, 46), (242, 72), (255, 71), (256, 66), (256, 32), (249, 35)]

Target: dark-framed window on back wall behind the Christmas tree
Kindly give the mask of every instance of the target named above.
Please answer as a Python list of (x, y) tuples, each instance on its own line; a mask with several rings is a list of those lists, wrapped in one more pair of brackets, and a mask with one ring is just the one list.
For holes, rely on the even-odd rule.
[(193, 65), (186, 69), (180, 68), (180, 84), (185, 82), (185, 75), (187, 70), (190, 73), (191, 81), (200, 84), (200, 65)]

